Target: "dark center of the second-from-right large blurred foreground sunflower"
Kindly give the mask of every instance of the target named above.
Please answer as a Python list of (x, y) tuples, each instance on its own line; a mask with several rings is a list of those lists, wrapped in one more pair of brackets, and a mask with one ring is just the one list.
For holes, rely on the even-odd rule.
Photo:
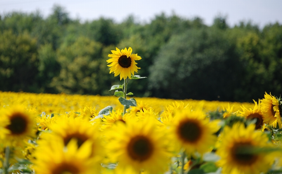
[(178, 136), (189, 143), (194, 143), (202, 136), (202, 129), (195, 121), (182, 121), (177, 129)]

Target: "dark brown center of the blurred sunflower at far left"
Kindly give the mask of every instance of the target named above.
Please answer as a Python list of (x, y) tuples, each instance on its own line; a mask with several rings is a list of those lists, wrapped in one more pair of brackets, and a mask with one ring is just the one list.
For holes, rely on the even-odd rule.
[(14, 113), (10, 119), (11, 124), (6, 128), (11, 131), (12, 134), (22, 134), (26, 131), (27, 128), (27, 120), (26, 116), (23, 113)]

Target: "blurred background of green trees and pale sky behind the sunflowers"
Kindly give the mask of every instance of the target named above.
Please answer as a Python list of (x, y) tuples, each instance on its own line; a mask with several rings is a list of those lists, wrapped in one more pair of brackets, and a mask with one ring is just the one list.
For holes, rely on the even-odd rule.
[(110, 50), (142, 57), (137, 97), (251, 102), (282, 91), (282, 1), (0, 0), (0, 91), (113, 95)]

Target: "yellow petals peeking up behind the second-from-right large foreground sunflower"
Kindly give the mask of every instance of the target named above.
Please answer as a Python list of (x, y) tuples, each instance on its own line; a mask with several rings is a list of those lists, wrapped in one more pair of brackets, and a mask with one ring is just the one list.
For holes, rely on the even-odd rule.
[(166, 106), (167, 111), (164, 111), (160, 115), (161, 121), (164, 124), (170, 123), (172, 121), (175, 112), (180, 111), (182, 109), (188, 109), (188, 110), (192, 109), (192, 106), (189, 106), (189, 104), (184, 106), (184, 103), (182, 101), (180, 101), (179, 103), (175, 101), (175, 103), (172, 103), (172, 105), (167, 105)]

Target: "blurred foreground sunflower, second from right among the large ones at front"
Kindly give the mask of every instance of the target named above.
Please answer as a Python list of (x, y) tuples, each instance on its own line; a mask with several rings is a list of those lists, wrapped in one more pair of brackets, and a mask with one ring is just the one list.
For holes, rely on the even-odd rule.
[(175, 150), (183, 147), (189, 155), (194, 152), (205, 153), (212, 150), (216, 142), (215, 133), (219, 130), (218, 121), (205, 118), (202, 111), (181, 110), (175, 113), (170, 126)]

